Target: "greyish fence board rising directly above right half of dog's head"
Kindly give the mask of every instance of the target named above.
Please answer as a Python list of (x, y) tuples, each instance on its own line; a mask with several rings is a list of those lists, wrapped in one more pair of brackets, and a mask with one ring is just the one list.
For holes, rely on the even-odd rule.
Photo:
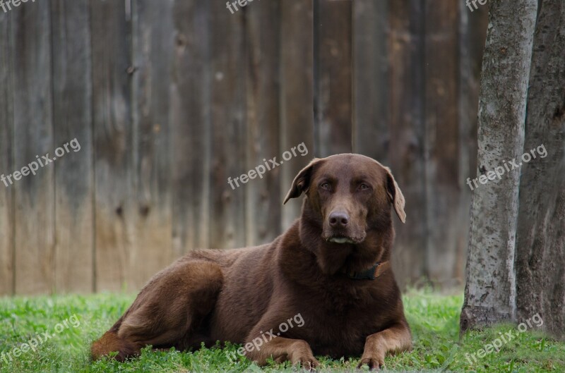
[(353, 1), (353, 149), (388, 164), (388, 1)]

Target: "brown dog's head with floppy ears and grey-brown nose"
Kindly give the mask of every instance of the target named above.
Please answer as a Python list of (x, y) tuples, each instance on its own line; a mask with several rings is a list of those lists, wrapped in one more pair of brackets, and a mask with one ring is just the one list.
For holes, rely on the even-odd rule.
[(314, 159), (292, 182), (285, 203), (304, 193), (302, 219), (335, 245), (361, 245), (371, 231), (391, 230), (391, 208), (403, 223), (404, 196), (391, 170), (360, 154)]

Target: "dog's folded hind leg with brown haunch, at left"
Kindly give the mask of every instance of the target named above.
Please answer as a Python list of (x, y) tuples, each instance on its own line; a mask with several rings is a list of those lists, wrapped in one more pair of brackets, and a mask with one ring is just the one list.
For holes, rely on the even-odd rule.
[(93, 360), (117, 351), (116, 359), (141, 348), (186, 348), (191, 333), (212, 312), (223, 276), (218, 264), (179, 261), (156, 274), (112, 329), (93, 343)]

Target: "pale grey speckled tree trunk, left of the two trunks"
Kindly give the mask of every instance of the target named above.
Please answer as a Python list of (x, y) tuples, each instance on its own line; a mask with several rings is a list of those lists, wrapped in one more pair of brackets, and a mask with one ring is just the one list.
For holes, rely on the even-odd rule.
[(478, 180), (468, 179), (473, 196), (461, 331), (516, 317), (520, 171), (484, 180), (522, 154), (536, 15), (537, 0), (491, 2), (479, 103)]

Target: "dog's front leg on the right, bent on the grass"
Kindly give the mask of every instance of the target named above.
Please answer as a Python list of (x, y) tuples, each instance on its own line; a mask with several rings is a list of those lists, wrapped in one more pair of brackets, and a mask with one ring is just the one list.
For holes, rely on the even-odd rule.
[(384, 365), (384, 357), (387, 353), (400, 353), (410, 348), (412, 348), (412, 336), (408, 324), (405, 322), (394, 324), (367, 337), (363, 356), (357, 367), (367, 364), (369, 369), (379, 369)]

